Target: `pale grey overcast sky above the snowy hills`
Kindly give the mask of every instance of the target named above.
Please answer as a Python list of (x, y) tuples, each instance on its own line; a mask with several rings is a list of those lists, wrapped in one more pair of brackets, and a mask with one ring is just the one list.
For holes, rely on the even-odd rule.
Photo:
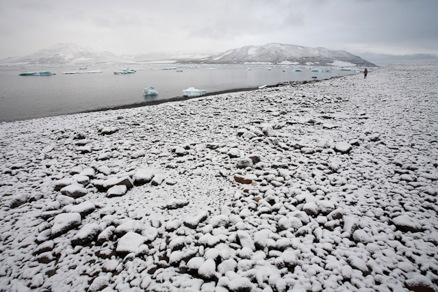
[(0, 59), (58, 42), (116, 55), (279, 42), (421, 59), (438, 55), (437, 12), (438, 0), (0, 0)]

